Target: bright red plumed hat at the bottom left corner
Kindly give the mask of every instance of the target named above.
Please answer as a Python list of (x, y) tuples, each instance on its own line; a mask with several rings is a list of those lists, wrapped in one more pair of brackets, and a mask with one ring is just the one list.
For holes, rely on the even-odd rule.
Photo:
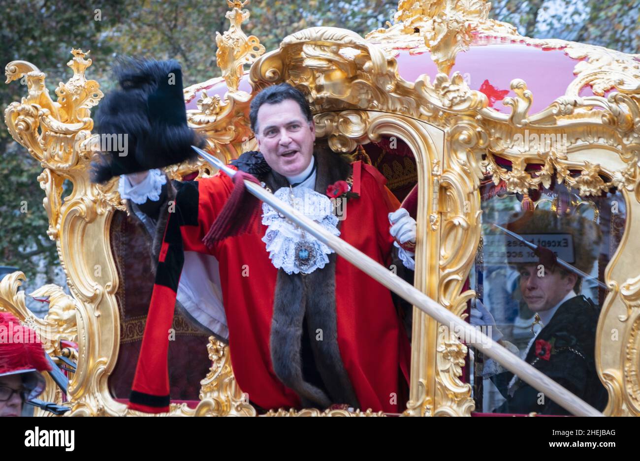
[(46, 382), (40, 371), (49, 370), (51, 364), (36, 332), (12, 314), (0, 312), (0, 376), (22, 374), (30, 400), (44, 391)]

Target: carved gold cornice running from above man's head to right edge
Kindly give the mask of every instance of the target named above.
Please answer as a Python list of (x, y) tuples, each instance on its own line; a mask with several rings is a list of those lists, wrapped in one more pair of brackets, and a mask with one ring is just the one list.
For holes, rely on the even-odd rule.
[[(477, 13), (474, 20), (480, 24), (483, 17)], [(523, 136), (523, 128), (541, 134), (563, 130), (567, 150), (592, 143), (594, 139), (620, 150), (625, 167), (609, 169), (612, 184), (632, 187), (636, 181), (637, 168), (633, 160), (640, 152), (640, 138), (631, 122), (638, 111), (634, 96), (637, 91), (633, 88), (627, 89), (629, 94), (621, 90), (609, 98), (561, 97), (540, 113), (529, 114), (533, 95), (524, 80), (515, 79), (511, 88), (516, 97), (506, 98), (506, 104), (513, 110), (511, 114), (502, 114), (488, 107), (483, 93), (470, 90), (459, 73), (451, 79), (438, 74), (433, 84), (428, 76), (422, 75), (411, 84), (397, 75), (394, 59), (387, 58), (383, 65), (383, 56), (374, 45), (349, 31), (313, 27), (285, 38), (280, 50), (256, 61), (251, 79), (258, 88), (291, 81), (308, 94), (312, 104), (316, 104), (314, 109), (322, 105), (324, 111), (366, 107), (408, 112), (436, 126), (447, 125), (452, 115), (473, 116), (478, 118), (479, 129), (490, 135), (492, 150), (496, 153), (510, 153), (515, 136)], [(588, 111), (593, 105), (603, 110)], [(599, 184), (598, 178), (589, 175), (582, 176), (576, 184), (586, 191), (605, 187)]]

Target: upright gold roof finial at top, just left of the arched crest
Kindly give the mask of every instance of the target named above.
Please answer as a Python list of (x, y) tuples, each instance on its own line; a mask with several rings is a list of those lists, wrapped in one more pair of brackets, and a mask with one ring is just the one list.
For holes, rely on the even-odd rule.
[(247, 3), (249, 0), (227, 0), (228, 6), (233, 10), (227, 12), (225, 17), (231, 25), (222, 35), (216, 32), (216, 63), (222, 71), (229, 91), (237, 91), (244, 74), (244, 65), (253, 63), (265, 51), (257, 36), (246, 36), (242, 30), (242, 23), (250, 16), (247, 10), (241, 10)]

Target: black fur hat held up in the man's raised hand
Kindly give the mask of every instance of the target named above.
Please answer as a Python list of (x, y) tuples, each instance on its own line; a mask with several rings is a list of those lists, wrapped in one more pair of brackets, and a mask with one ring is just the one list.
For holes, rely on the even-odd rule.
[(113, 70), (121, 90), (98, 105), (100, 161), (92, 182), (195, 159), (203, 140), (187, 125), (182, 69), (175, 59), (125, 58)]

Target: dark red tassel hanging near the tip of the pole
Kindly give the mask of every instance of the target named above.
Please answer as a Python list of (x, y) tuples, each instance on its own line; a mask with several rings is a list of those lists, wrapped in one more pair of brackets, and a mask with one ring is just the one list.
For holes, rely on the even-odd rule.
[(216, 221), (212, 224), (202, 242), (212, 247), (219, 240), (234, 237), (248, 231), (258, 215), (260, 199), (246, 190), (244, 180), (260, 184), (254, 176), (244, 171), (236, 171), (234, 175), (234, 190), (222, 208)]

